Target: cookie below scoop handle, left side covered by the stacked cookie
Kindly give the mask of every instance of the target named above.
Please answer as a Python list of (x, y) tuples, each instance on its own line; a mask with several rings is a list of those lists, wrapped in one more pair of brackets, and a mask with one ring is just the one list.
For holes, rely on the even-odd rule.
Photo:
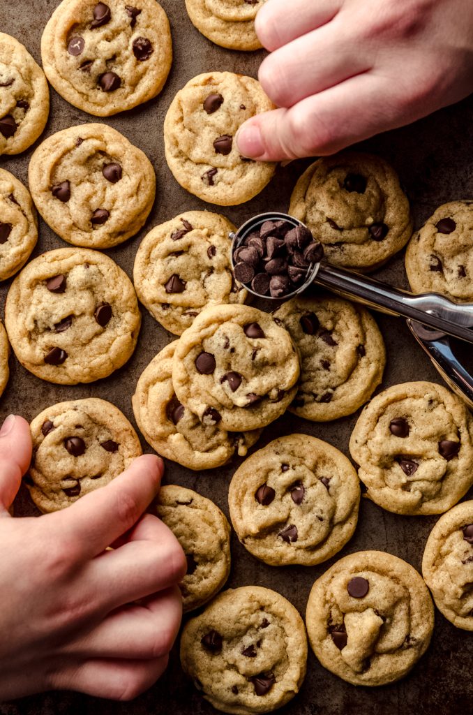
[(381, 383), (386, 350), (367, 310), (333, 296), (292, 298), (274, 316), (301, 356), (299, 391), (289, 408), (314, 422), (351, 415)]

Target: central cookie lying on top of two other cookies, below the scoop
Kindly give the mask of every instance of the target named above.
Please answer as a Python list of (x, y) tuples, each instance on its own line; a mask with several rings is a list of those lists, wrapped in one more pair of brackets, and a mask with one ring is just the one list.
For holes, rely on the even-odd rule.
[(272, 315), (218, 305), (196, 317), (176, 345), (177, 399), (204, 425), (256, 430), (284, 413), (296, 393), (299, 356)]

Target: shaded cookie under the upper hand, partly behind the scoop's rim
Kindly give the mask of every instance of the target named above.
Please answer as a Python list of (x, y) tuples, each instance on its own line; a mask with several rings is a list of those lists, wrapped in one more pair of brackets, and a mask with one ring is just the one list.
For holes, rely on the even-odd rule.
[(412, 235), (409, 201), (381, 157), (341, 152), (302, 174), (289, 214), (324, 245), (330, 263), (374, 270)]

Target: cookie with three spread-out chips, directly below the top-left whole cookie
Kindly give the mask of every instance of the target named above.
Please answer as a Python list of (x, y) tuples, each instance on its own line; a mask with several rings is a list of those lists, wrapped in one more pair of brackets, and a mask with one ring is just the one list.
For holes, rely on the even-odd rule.
[(31, 157), (31, 195), (46, 223), (74, 246), (111, 248), (151, 211), (156, 177), (146, 154), (105, 124), (48, 137)]

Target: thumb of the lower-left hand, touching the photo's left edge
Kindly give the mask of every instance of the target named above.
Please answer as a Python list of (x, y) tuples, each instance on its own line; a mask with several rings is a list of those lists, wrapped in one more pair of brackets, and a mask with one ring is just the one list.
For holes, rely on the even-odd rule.
[(0, 516), (8, 514), (31, 462), (31, 433), (22, 417), (9, 415), (0, 429)]

